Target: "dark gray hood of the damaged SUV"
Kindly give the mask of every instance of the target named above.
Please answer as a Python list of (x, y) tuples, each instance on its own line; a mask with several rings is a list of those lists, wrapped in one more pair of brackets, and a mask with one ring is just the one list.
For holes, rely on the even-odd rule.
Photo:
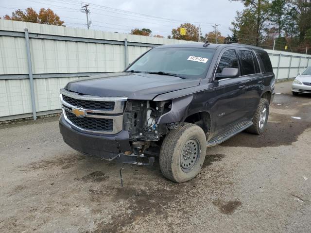
[(132, 100), (153, 100), (159, 94), (199, 84), (200, 80), (181, 79), (168, 75), (120, 72), (76, 80), (68, 83), (65, 88), (92, 96), (125, 96)]

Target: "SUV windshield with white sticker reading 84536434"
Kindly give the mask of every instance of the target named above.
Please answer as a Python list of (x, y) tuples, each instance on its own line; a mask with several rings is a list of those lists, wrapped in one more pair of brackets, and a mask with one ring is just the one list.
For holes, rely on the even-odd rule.
[(214, 52), (205, 48), (152, 49), (126, 71), (173, 74), (189, 79), (205, 78)]

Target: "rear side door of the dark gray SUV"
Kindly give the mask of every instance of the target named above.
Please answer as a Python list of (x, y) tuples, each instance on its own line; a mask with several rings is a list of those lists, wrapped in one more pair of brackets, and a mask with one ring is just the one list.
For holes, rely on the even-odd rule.
[(245, 78), (245, 108), (242, 110), (247, 119), (252, 119), (264, 89), (260, 67), (252, 50), (237, 50), (241, 67), (241, 77)]

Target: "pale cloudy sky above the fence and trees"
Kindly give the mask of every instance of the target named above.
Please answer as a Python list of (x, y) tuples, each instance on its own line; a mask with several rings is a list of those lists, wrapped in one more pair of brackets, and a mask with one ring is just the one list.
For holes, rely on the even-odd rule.
[[(181, 23), (190, 22), (201, 27), (202, 35), (220, 24), (222, 35), (231, 35), (229, 27), (236, 11), (243, 9), (239, 1), (230, 0), (89, 0), (92, 22), (90, 29), (130, 33), (133, 28), (149, 28), (152, 34), (165, 37)], [(0, 16), (17, 9), (51, 8), (68, 27), (86, 28), (86, 13), (82, 0), (0, 0)]]

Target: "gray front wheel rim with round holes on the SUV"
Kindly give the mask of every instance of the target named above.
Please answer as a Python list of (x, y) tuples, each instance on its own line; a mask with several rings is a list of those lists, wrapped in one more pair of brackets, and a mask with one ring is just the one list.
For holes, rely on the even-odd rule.
[(200, 143), (196, 139), (188, 140), (180, 155), (180, 166), (185, 172), (192, 170), (193, 166), (196, 164), (200, 157)]

